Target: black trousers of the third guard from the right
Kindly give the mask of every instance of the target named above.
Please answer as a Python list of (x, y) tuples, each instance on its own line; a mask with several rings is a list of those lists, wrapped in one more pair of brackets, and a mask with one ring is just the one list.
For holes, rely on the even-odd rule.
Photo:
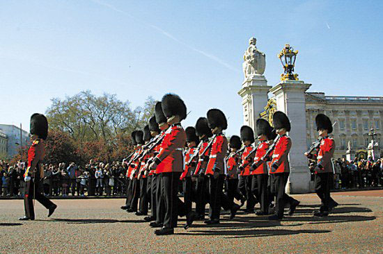
[(260, 201), (260, 211), (265, 214), (269, 211), (268, 178), (267, 173), (261, 173), (253, 175), (253, 179), (251, 180), (251, 192), (253, 192), (257, 200)]

